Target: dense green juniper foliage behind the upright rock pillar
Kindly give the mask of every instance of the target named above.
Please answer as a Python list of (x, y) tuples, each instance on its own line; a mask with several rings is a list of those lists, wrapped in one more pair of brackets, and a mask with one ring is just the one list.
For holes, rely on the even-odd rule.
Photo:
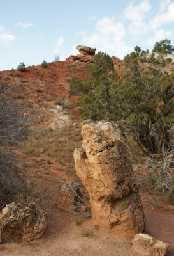
[[(122, 79), (113, 70), (112, 59), (96, 54), (94, 65), (83, 84), (86, 91), (79, 101), (82, 118), (113, 120), (128, 132), (147, 156), (171, 150), (171, 125), (174, 122), (174, 74), (165, 66), (170, 60), (157, 59), (149, 51), (136, 47), (124, 58)], [(101, 64), (100, 64), (101, 59)], [(140, 66), (140, 60), (149, 68)], [(147, 67), (147, 65), (146, 65)]]

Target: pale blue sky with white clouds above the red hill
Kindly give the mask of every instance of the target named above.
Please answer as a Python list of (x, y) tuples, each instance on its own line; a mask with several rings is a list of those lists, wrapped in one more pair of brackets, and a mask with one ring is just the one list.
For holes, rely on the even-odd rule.
[(174, 0), (0, 0), (0, 70), (65, 60), (87, 45), (124, 58), (174, 45)]

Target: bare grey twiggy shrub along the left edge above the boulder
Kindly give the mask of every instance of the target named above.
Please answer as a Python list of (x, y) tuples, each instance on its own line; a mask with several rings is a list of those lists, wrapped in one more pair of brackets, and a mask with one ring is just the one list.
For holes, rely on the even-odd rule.
[(15, 102), (15, 90), (17, 86), (6, 86), (0, 81), (0, 207), (13, 202), (24, 186), (14, 149), (27, 138), (27, 125), (33, 122), (26, 109)]

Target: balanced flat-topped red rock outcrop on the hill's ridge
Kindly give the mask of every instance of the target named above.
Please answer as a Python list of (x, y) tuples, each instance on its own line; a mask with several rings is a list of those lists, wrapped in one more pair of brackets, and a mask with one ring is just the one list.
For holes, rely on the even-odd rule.
[(93, 56), (95, 55), (96, 48), (91, 48), (83, 45), (77, 45), (76, 49), (80, 52), (78, 55), (71, 55), (66, 60), (81, 61), (85, 63), (93, 63)]

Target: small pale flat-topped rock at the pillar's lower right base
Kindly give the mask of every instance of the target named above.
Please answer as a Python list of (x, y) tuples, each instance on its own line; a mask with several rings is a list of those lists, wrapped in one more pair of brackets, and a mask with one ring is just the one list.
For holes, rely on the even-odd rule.
[(147, 234), (136, 234), (133, 239), (133, 248), (143, 256), (164, 256), (169, 244), (155, 240)]

